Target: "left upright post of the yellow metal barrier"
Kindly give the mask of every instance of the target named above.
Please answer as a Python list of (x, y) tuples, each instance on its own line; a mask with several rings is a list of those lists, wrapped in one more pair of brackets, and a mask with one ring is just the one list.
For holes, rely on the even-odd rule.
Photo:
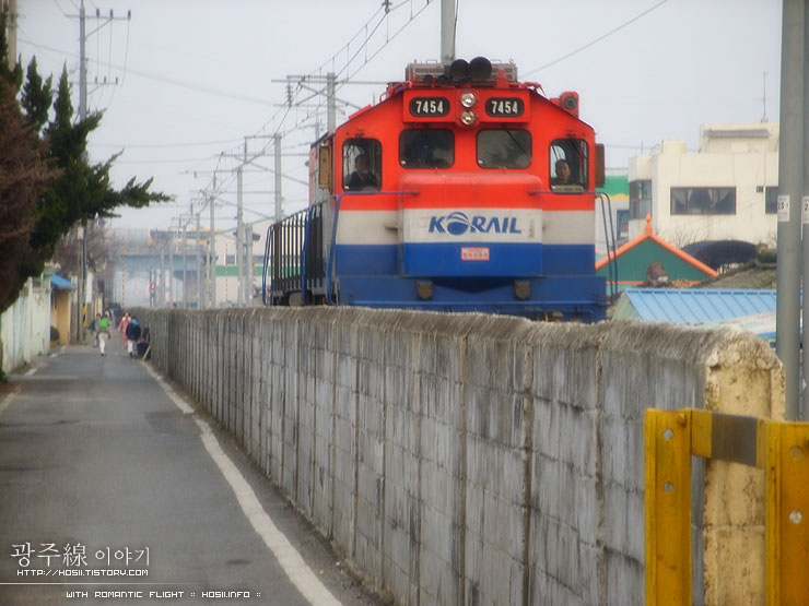
[(646, 604), (691, 604), (691, 412), (647, 409)]

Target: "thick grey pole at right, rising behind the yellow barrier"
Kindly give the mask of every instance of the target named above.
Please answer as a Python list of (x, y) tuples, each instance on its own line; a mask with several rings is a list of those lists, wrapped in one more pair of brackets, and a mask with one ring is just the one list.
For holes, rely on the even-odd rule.
[[(784, 364), (786, 375), (784, 394), (787, 420), (798, 420), (800, 417), (798, 310), (800, 309), (801, 192), (804, 191), (801, 153), (804, 148), (806, 16), (804, 0), (784, 0), (781, 38), (781, 141), (778, 144), (778, 263), (776, 270), (778, 289), (775, 325), (776, 353)], [(807, 236), (806, 227), (804, 227), (804, 236)], [(809, 239), (806, 241), (809, 243)], [(807, 268), (809, 269), (809, 265)], [(805, 328), (807, 325), (805, 324)]]

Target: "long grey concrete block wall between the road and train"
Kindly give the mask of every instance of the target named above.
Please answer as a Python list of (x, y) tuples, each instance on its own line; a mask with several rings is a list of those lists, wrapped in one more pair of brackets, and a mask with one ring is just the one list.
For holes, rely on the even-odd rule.
[[(643, 604), (644, 409), (783, 418), (777, 359), (730, 330), (323, 308), (140, 318), (154, 364), (398, 604)], [(760, 473), (695, 467), (694, 603), (748, 603), (763, 595)]]

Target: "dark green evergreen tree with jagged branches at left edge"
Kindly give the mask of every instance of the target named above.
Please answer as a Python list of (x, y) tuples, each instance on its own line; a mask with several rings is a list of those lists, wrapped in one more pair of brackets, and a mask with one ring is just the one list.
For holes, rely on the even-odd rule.
[[(11, 193), (0, 189), (0, 213), (12, 207), (16, 209), (21, 225), (24, 225), (26, 230), (27, 242), (26, 247), (19, 249), (24, 250), (20, 263), (13, 265), (13, 271), (9, 269), (9, 272), (0, 276), (0, 280), (7, 278), (3, 280), (4, 284), (9, 284), (7, 289), (0, 288), (0, 312), (15, 300), (28, 277), (42, 273), (45, 263), (52, 257), (59, 239), (75, 224), (98, 217), (116, 216), (115, 210), (121, 205), (139, 209), (152, 202), (171, 200), (164, 193), (151, 191), (152, 179), (138, 182), (133, 177), (122, 189), (116, 190), (110, 182), (109, 171), (118, 155), (106, 162), (90, 164), (87, 138), (101, 123), (102, 115), (92, 114), (84, 120), (74, 121), (67, 66), (59, 79), (56, 103), (52, 103), (50, 92), (52, 79), (48, 78), (43, 82), (37, 72), (36, 60), (32, 60), (21, 99), (16, 100), (23, 82), (23, 70), (19, 62), (13, 69), (8, 68), (7, 20), (7, 12), (0, 11), (0, 93), (3, 94), (3, 110), (10, 112), (10, 116), (20, 117), (22, 120), (20, 128), (28, 133), (28, 138), (24, 143), (21, 143), (23, 140), (20, 135), (14, 135), (13, 141), (7, 142), (7, 139), (3, 139), (0, 142), (0, 186), (15, 179), (30, 179), (30, 189), (26, 191), (35, 191), (36, 194), (12, 200)], [(52, 119), (48, 121), (51, 103)], [(8, 104), (15, 106), (15, 112), (5, 107)], [(8, 120), (11, 118), (7, 118)], [(4, 128), (5, 123), (3, 122), (0, 128)], [(11, 138), (12, 131), (10, 130), (8, 134)], [(34, 178), (37, 175), (36, 170), (24, 171), (21, 164), (14, 161), (17, 150), (7, 147), (7, 144), (22, 145), (40, 161), (47, 158), (48, 162), (44, 166), (47, 166), (48, 170), (42, 168), (39, 175), (42, 178)], [(28, 161), (34, 162), (31, 158)], [(44, 178), (46, 175), (47, 179)], [(25, 212), (21, 211), (20, 204), (25, 206)], [(0, 242), (11, 241), (9, 238), (17, 237), (21, 229), (16, 223), (2, 221), (3, 216), (5, 215), (0, 214)], [(4, 259), (2, 254), (0, 258)], [(9, 268), (11, 266), (9, 264)]]

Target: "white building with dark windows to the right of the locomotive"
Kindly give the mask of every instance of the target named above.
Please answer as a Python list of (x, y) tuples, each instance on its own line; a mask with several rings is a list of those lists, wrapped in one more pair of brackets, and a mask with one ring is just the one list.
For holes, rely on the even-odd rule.
[(630, 158), (629, 237), (652, 227), (677, 247), (706, 240), (774, 245), (778, 124), (704, 124), (700, 151), (664, 141)]

